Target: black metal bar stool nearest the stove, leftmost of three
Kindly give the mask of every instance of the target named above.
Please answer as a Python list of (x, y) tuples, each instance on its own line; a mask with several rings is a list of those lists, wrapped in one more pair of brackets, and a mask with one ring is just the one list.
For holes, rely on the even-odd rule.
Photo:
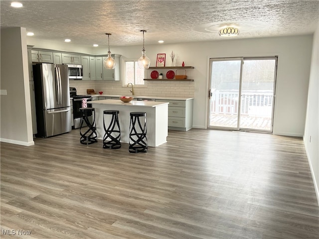
[[(80, 143), (82, 144), (92, 144), (98, 141), (98, 136), (96, 134), (95, 127), (95, 109), (94, 108), (80, 108), (82, 114), (81, 124), (80, 124)], [(92, 116), (92, 122), (90, 122), (89, 117)], [(84, 124), (85, 123), (85, 124)], [(84, 126), (88, 126), (88, 129), (85, 130)]]

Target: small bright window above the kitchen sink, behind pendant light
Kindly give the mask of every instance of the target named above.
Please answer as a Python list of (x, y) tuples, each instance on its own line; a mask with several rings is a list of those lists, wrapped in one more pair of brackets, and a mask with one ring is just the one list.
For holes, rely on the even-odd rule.
[(137, 61), (125, 61), (124, 84), (144, 85), (144, 69), (138, 66)]

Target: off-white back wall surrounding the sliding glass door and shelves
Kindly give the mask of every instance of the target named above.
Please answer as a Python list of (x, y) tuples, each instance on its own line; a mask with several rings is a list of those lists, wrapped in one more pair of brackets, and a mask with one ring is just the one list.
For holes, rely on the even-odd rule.
[[(173, 50), (176, 54), (176, 65), (180, 66), (181, 62), (184, 61), (186, 66), (191, 65), (195, 67), (193, 70), (187, 70), (187, 77), (195, 80), (193, 86), (190, 86), (190, 89), (194, 91), (193, 126), (197, 128), (206, 128), (207, 126), (209, 58), (277, 55), (277, 94), (273, 133), (303, 136), (305, 130), (312, 41), (312, 35), (240, 40), (225, 40), (225, 38), (223, 38), (223, 40), (220, 41), (146, 45), (145, 48), (147, 56), (151, 59), (151, 66), (156, 65), (158, 53), (166, 53), (166, 66), (170, 66), (169, 54)], [(34, 45), (34, 47), (52, 49), (51, 44), (45, 45), (43, 42), (37, 44), (34, 40), (28, 42), (28, 44)], [(65, 44), (63, 47), (65, 47)], [(63, 47), (60, 47), (60, 49)], [(63, 49), (66, 50), (65, 48)], [(88, 52), (90, 50), (92, 50), (92, 52)], [(92, 54), (106, 54), (106, 49), (104, 48), (90, 48), (86, 49), (86, 51)], [(142, 44), (139, 46), (112, 47), (111, 51), (114, 54), (120, 54), (129, 59), (138, 59), (142, 54)], [(87, 83), (77, 82), (76, 84)], [(103, 87), (101, 83), (92, 82), (91, 88), (94, 88), (96, 84), (99, 88)], [(105, 88), (103, 88), (103, 91), (106, 94), (114, 92), (114, 87), (118, 91), (121, 91), (120, 83), (105, 82), (104, 84)], [(163, 84), (167, 83), (165, 82)], [(175, 85), (176, 82), (173, 84), (174, 87), (178, 87)], [(123, 94), (128, 93), (127, 88), (122, 87), (122, 90)], [(148, 87), (143, 91), (143, 94), (148, 95), (148, 92), (153, 94), (154, 88)], [(137, 94), (139, 93), (137, 92)]]

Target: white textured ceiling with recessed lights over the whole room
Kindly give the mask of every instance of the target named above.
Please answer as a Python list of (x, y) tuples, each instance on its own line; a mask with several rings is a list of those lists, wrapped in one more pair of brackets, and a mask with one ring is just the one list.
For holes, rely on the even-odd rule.
[[(34, 38), (71, 44), (140, 45), (221, 40), (222, 26), (237, 38), (313, 33), (319, 0), (23, 0), (22, 8), (0, 1), (1, 27), (21, 26)], [(29, 37), (29, 36), (28, 36)], [(222, 38), (225, 39), (225, 38)]]

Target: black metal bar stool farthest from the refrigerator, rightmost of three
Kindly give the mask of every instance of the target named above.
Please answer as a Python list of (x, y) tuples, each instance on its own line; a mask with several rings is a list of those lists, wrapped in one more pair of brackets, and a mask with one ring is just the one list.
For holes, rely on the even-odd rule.
[[(130, 153), (146, 153), (148, 151), (148, 139), (146, 137), (147, 124), (145, 112), (131, 112), (130, 121), (130, 138), (129, 152)], [(144, 118), (144, 125), (141, 123), (141, 118)], [(143, 122), (143, 121), (142, 121)]]

